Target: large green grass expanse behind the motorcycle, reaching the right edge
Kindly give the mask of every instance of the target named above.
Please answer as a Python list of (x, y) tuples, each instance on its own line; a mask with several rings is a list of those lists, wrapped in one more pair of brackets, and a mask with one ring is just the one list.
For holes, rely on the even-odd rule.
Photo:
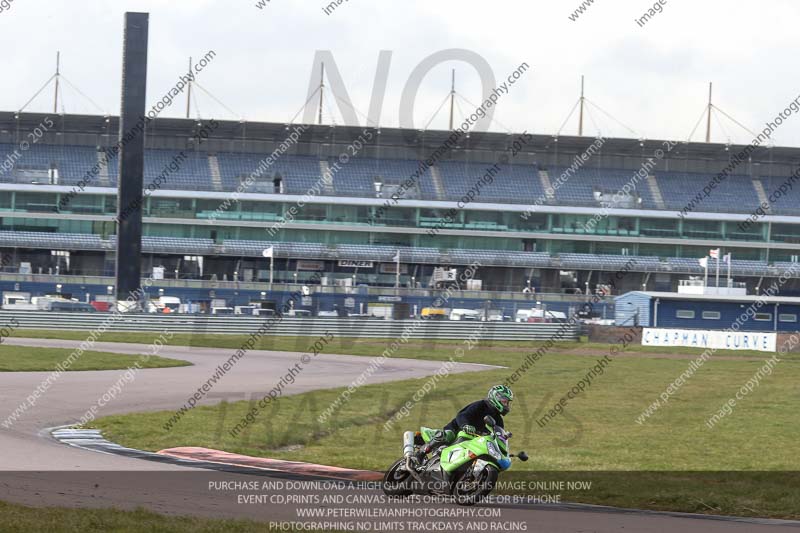
[[(233, 336), (175, 336), (172, 343), (237, 347)], [(107, 339), (104, 339), (107, 340)], [(130, 340), (120, 338), (120, 340)], [(303, 351), (309, 339), (267, 339), (262, 348)], [(265, 346), (269, 344), (269, 346)], [(447, 360), (464, 346), (458, 341), (409, 342), (394, 357)], [(502, 382), (538, 343), (494, 343), (467, 351), (463, 362), (508, 367), (471, 374), (453, 374), (440, 380), (410, 415), (384, 430), (384, 423), (426, 383), (428, 378), (359, 389), (349, 402), (324, 423), (317, 420), (343, 389), (323, 390), (281, 398), (263, 410), (256, 422), (236, 437), (229, 431), (250, 407), (248, 401), (223, 402), (189, 411), (171, 431), (163, 429), (172, 411), (106, 417), (95, 422), (107, 438), (126, 446), (161, 450), (177, 446), (204, 446), (253, 456), (322, 464), (385, 469), (400, 455), (401, 435), (420, 425), (438, 427), (468, 402)], [(385, 341), (335, 339), (328, 353), (374, 356)], [(514, 385), (516, 401), (507, 418), (514, 432), (512, 447), (525, 449), (527, 463), (515, 472), (539, 479), (547, 472), (586, 472), (602, 480), (608, 471), (628, 472), (633, 478), (575, 494), (572, 501), (625, 507), (668, 509), (741, 516), (800, 518), (798, 477), (789, 476), (787, 488), (780, 472), (800, 470), (796, 405), (800, 400), (800, 361), (787, 356), (774, 373), (716, 427), (704, 423), (768, 356), (758, 352), (718, 352), (666, 407), (644, 424), (635, 422), (669, 383), (686, 370), (700, 350), (632, 347), (612, 358), (603, 375), (586, 392), (570, 400), (564, 414), (540, 427), (537, 419), (555, 404), (595, 364), (609, 353), (608, 345), (558, 344)], [(659, 356), (657, 354), (665, 354)], [(746, 358), (759, 358), (758, 361)], [(365, 361), (365, 367), (367, 362)], [(275, 377), (277, 381), (278, 377)], [(302, 380), (300, 374), (297, 377)], [(265, 390), (270, 388), (265, 383)], [(262, 391), (263, 393), (263, 391)], [(241, 397), (241, 396), (240, 396)], [(258, 400), (260, 396), (254, 396)], [(177, 407), (177, 406), (176, 406)], [(661, 472), (655, 488), (648, 472)], [(678, 473), (675, 473), (678, 471)], [(705, 472), (702, 481), (691, 482)], [(758, 475), (758, 471), (770, 474)], [(684, 474), (685, 472), (685, 474)], [(721, 473), (720, 473), (721, 472)], [(747, 479), (731, 480), (732, 472), (748, 472)]]

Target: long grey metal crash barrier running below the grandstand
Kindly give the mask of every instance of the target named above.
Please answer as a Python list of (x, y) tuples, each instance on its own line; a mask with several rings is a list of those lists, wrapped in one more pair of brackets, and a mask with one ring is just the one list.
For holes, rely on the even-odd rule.
[[(52, 313), (48, 311), (0, 311), (0, 324), (19, 322), (21, 329), (98, 329), (104, 323), (107, 331), (162, 331), (173, 333), (229, 333), (249, 335), (258, 331), (266, 317), (149, 315), (126, 314), (113, 320), (108, 313)], [(375, 320), (365, 318), (284, 318), (276, 321), (267, 335), (318, 337), (330, 331), (337, 337), (395, 338), (403, 334), (414, 320)], [(471, 322), (423, 320), (409, 328), (414, 339), (465, 339), (481, 325), (484, 340), (546, 340), (566, 328), (563, 340), (577, 339), (573, 326), (562, 324), (528, 324), (514, 322)]]

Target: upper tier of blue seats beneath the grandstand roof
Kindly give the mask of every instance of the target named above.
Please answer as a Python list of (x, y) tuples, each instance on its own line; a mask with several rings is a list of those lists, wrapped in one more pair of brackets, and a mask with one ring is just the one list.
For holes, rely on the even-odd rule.
[[(13, 153), (16, 147), (0, 144), (0, 161)], [(178, 150), (149, 149), (145, 152), (145, 185), (152, 182), (169, 167)], [(180, 162), (177, 170), (169, 173), (162, 189), (198, 191), (235, 191), (243, 180), (257, 169), (264, 167), (270, 154), (220, 152), (186, 152), (187, 159)], [(102, 153), (92, 146), (67, 146), (36, 144), (24, 152), (16, 161), (15, 168), (0, 173), (0, 182), (48, 183), (48, 170), (58, 169), (59, 183), (74, 185), (87, 171), (94, 167)], [(215, 176), (216, 158), (219, 175)], [(116, 187), (117, 160), (112, 160), (90, 185)], [(426, 200), (459, 200), (470, 188), (481, 180), (490, 165), (444, 161), (416, 178), (417, 186), (406, 193), (406, 198)], [(329, 179), (323, 179), (326, 169)], [(243, 192), (305, 194), (316, 188), (320, 195), (350, 197), (376, 196), (375, 182), (384, 183), (384, 194), (419, 169), (419, 162), (400, 159), (352, 158), (347, 162), (337, 159), (320, 160), (315, 156), (283, 155), (263, 170), (258, 179)], [(544, 198), (544, 188), (539, 176), (540, 167), (535, 164), (501, 165), (493, 183), (482, 185), (474, 201), (494, 203), (531, 204)], [(566, 167), (547, 168), (551, 183), (556, 183)], [(710, 173), (687, 173), (655, 171), (657, 187), (663, 205), (653, 195), (647, 180), (638, 180), (634, 195), (641, 199), (630, 207), (643, 209), (668, 209), (679, 211), (689, 203), (711, 179)], [(567, 206), (598, 207), (595, 193), (613, 195), (633, 179), (631, 170), (613, 170), (583, 167), (570, 175), (555, 190), (554, 198), (547, 203)], [(276, 189), (275, 178), (280, 178)], [(756, 177), (767, 195), (775, 191), (785, 177)], [(730, 176), (707, 197), (703, 198), (695, 211), (750, 213), (760, 198), (750, 176)], [(606, 196), (608, 197), (608, 196)], [(794, 187), (773, 206), (773, 213), (793, 215), (800, 213), (800, 187)]]

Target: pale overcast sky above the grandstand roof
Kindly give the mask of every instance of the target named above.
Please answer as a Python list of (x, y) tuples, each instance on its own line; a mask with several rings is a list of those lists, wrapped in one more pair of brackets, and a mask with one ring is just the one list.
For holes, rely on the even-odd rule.
[[(189, 56), (216, 52), (198, 82), (236, 114), (200, 93), (192, 116), (203, 118), (290, 120), (306, 100), (317, 50), (333, 53), (363, 115), (379, 51), (393, 52), (380, 121), (386, 126), (398, 125), (411, 71), (450, 48), (485, 58), (498, 82), (522, 62), (532, 67), (498, 104), (495, 131), (555, 133), (579, 96), (581, 74), (587, 97), (625, 125), (590, 107), (591, 135), (685, 140), (706, 105), (709, 81), (715, 103), (752, 130), (800, 95), (794, 56), (800, 4), (789, 0), (668, 0), (644, 27), (635, 19), (653, 4), (642, 0), (595, 0), (576, 21), (569, 15), (580, 0), (349, 0), (330, 15), (325, 0), (270, 0), (263, 9), (257, 1), (13, 0), (0, 12), (0, 109), (19, 109), (52, 74), (60, 50), (66, 79), (103, 111), (118, 114), (125, 11), (150, 13), (150, 105), (175, 84)], [(459, 94), (481, 100), (473, 67), (442, 63), (422, 84), (417, 127), (446, 97), (452, 68)], [(102, 114), (69, 86), (63, 96), (67, 113)], [(342, 124), (329, 102), (325, 122)], [(162, 116), (183, 116), (185, 106), (180, 96)], [(469, 105), (462, 100), (460, 108)], [(28, 110), (52, 111), (52, 91)], [(445, 106), (430, 127), (446, 128), (447, 112)], [(704, 128), (692, 139), (702, 140)], [(563, 130), (576, 132), (577, 114)], [(751, 138), (728, 119), (714, 119), (713, 140)], [(785, 122), (774, 140), (800, 146), (800, 117)]]

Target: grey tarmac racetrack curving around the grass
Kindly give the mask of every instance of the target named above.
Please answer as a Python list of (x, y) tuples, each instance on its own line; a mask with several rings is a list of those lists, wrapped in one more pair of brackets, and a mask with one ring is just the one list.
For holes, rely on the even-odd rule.
[[(80, 344), (79, 341), (23, 338), (10, 338), (5, 342), (21, 347), (75, 348)], [(98, 342), (92, 349), (116, 353), (149, 353), (147, 345), (122, 343)], [(137, 379), (127, 384), (114, 401), (100, 409), (98, 416), (176, 409), (206, 382), (217, 366), (226, 361), (232, 352), (230, 349), (164, 346), (158, 355), (184, 359), (192, 362), (194, 366), (141, 370)], [(378, 350), (376, 354), (377, 352)], [(198, 405), (217, 403), (224, 398), (230, 401), (244, 399), (245, 393), (266, 392), (297, 360), (297, 353), (257, 350), (248, 352), (215, 385), (208, 398), (198, 402)], [(369, 358), (365, 357), (319, 355), (312, 364), (305, 367), (296, 381), (287, 387), (286, 393), (297, 394), (321, 388), (347, 386), (363, 372), (368, 361)], [(440, 366), (439, 361), (390, 359), (369, 378), (368, 382), (422, 377), (434, 373)], [(456, 371), (480, 371), (486, 368), (482, 365), (459, 364)], [(279, 473), (262, 472), (260, 475), (251, 475), (217, 472), (98, 453), (61, 444), (45, 431), (46, 428), (76, 422), (124, 372), (125, 370), (64, 373), (37, 404), (25, 412), (11, 428), (0, 426), (0, 451), (2, 451), (0, 500), (39, 506), (119, 508), (142, 506), (170, 515), (253, 518), (262, 521), (309, 520), (298, 518), (297, 508), (293, 505), (269, 501), (257, 504), (242, 503), (235, 491), (209, 488), (211, 486), (209, 482), (215, 480), (257, 480), (261, 483), (265, 480), (286, 479)], [(5, 420), (48, 374), (47, 372), (0, 373), (0, 421)], [(353, 490), (365, 495), (380, 493), (375, 488)], [(266, 492), (280, 493), (276, 490)], [(402, 507), (399, 504), (393, 506)], [(517, 530), (521, 530), (521, 525), (525, 525), (527, 531), (552, 533), (800, 531), (794, 524), (737, 522), (588, 507), (495, 504), (481, 506), (482, 509), (490, 507), (501, 512), (502, 523), (497, 522), (496, 530), (503, 530), (503, 524), (516, 524)], [(434, 516), (436, 513), (447, 516), (446, 510), (455, 509), (455, 506), (420, 503), (419, 508), (431, 509)], [(352, 518), (336, 517), (335, 513), (330, 516), (332, 518), (327, 520), (353, 522)], [(315, 519), (319, 520), (321, 519)], [(439, 519), (431, 520), (435, 522)], [(469, 518), (442, 520), (447, 523), (457, 521), (461, 524), (460, 531), (471, 530)]]

